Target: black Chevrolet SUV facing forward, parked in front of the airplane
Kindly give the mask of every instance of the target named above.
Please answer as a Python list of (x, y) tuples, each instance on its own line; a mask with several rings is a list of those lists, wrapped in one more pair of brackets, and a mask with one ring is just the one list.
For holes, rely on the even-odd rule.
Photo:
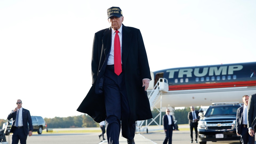
[(240, 140), (235, 129), (239, 107), (239, 102), (212, 103), (204, 117), (198, 121), (199, 143)]

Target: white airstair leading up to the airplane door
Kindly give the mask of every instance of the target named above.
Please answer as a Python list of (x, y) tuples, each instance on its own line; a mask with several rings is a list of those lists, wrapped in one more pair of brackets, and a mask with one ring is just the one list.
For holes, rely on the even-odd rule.
[[(166, 78), (159, 78), (159, 80), (155, 84), (154, 88), (148, 94), (151, 111), (156, 109), (159, 112), (159, 114), (157, 116), (155, 116), (154, 118), (151, 118), (152, 121), (150, 123), (148, 123), (147, 120), (137, 121), (136, 131), (144, 131), (146, 129), (146, 131), (148, 133), (147, 127), (152, 122), (157, 124), (159, 126), (159, 129), (161, 129), (162, 93), (165, 93), (165, 92), (168, 92), (168, 91), (169, 91), (168, 80)], [(158, 105), (159, 103), (160, 103), (160, 108), (157, 108), (156, 105)], [(158, 117), (159, 117), (159, 122), (156, 122), (155, 119), (158, 118)], [(145, 127), (142, 128), (144, 122), (145, 122)]]

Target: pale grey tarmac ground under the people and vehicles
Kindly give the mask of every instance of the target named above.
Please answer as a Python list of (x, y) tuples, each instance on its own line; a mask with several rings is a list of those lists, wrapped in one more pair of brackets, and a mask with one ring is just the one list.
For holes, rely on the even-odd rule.
[[(187, 127), (185, 125), (185, 127)], [(160, 127), (149, 127), (148, 133), (146, 130), (136, 132), (135, 143), (136, 144), (161, 144), (165, 138), (165, 133)], [(180, 126), (179, 126), (180, 128)], [(74, 130), (74, 128), (70, 128)], [(99, 129), (99, 128), (80, 128), (81, 129)], [(56, 130), (56, 129), (55, 129)], [(59, 129), (61, 130), (61, 129)], [(69, 130), (69, 129), (65, 129)], [(27, 137), (27, 144), (107, 144), (107, 141), (100, 140), (98, 135), (100, 133), (43, 133), (41, 135), (34, 134), (31, 137)], [(195, 135), (195, 134), (194, 134)], [(105, 134), (105, 138), (106, 138)], [(6, 136), (7, 142), (11, 143), (11, 135)], [(119, 138), (120, 144), (125, 144), (126, 139)], [(190, 133), (188, 130), (173, 131), (173, 144), (188, 144), (190, 143)], [(227, 141), (227, 142), (207, 142), (207, 144), (239, 144), (239, 141)]]

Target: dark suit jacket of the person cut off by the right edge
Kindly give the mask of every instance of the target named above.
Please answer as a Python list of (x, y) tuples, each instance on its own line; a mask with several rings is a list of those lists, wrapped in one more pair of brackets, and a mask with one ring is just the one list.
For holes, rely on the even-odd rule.
[(250, 95), (247, 107), (247, 127), (251, 127), (256, 117), (256, 94)]

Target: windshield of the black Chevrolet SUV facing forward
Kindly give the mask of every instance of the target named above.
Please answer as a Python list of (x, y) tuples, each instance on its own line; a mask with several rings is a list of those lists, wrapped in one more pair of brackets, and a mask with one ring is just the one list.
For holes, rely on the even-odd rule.
[(236, 115), (237, 109), (240, 106), (211, 106), (207, 110), (205, 117), (214, 116), (214, 115)]

